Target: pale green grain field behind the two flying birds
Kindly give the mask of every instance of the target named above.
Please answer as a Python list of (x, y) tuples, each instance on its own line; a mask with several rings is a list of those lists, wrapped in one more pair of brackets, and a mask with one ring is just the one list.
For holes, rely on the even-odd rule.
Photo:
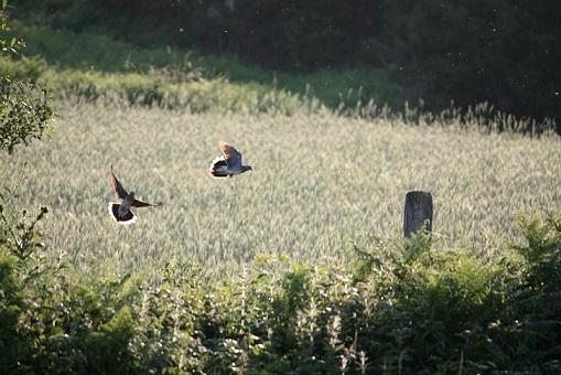
[[(513, 238), (515, 215), (560, 210), (561, 141), (483, 135), (453, 126), (411, 127), (324, 114), (222, 115), (65, 101), (58, 139), (1, 156), (21, 205), (47, 205), (52, 251), (87, 272), (179, 260), (207, 276), (238, 272), (257, 254), (344, 261), (365, 232), (399, 237), (404, 194), (430, 191), (433, 229), (446, 246)], [(212, 179), (219, 139), (252, 172)], [(111, 164), (129, 191), (163, 208), (139, 208), (136, 225), (111, 221)], [(148, 267), (147, 267), (148, 268)]]

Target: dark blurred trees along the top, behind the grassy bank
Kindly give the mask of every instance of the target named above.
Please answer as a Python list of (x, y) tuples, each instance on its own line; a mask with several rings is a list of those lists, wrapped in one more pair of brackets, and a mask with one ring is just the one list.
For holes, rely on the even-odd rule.
[(13, 13), (55, 33), (193, 49), (278, 72), (384, 71), (381, 90), (378, 74), (349, 77), (363, 103), (439, 111), (487, 101), (518, 117), (561, 115), (555, 1), (29, 0)]

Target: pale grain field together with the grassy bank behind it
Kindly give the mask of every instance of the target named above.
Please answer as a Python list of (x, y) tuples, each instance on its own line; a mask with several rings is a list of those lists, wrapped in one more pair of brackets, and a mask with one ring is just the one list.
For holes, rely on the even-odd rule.
[[(89, 272), (177, 258), (215, 276), (261, 253), (344, 260), (342, 249), (365, 232), (400, 234), (403, 196), (416, 189), (433, 193), (434, 228), (450, 244), (509, 238), (515, 212), (559, 208), (559, 138), (517, 135), (544, 129), (487, 104), (392, 110), (371, 99), (387, 88), (381, 72), (271, 75), (173, 47), (14, 29), (32, 57), (0, 60), (0, 69), (54, 88), (58, 140), (0, 159), (2, 173), (13, 185), (29, 161), (22, 205), (48, 204), (53, 248)], [(211, 179), (219, 139), (255, 171)], [(114, 225), (111, 164), (127, 189), (164, 208), (139, 210), (130, 228)]]

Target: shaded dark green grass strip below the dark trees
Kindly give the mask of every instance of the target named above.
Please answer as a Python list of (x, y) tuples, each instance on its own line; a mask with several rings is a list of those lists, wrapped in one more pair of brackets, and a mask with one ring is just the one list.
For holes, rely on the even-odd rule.
[[(322, 69), (305, 75), (269, 72), (242, 63), (234, 56), (201, 55), (174, 46), (139, 49), (95, 32), (53, 30), (47, 25), (26, 25), (19, 20), (12, 22), (12, 29), (14, 34), (28, 43), (23, 55), (43, 56), (46, 63), (30, 66), (31, 72), (26, 72), (26, 76), (41, 78), (43, 83), (48, 82), (55, 87), (65, 87), (64, 78), (58, 77), (68, 74), (79, 76), (94, 71), (99, 75), (109, 74), (115, 77), (173, 69), (175, 74), (185, 76), (196, 72), (190, 78), (227, 77), (231, 83), (247, 85), (249, 88), (311, 95), (331, 108), (341, 104), (353, 107), (358, 100), (367, 103), (371, 98), (381, 103), (387, 98), (386, 75), (376, 68)], [(0, 63), (0, 66), (8, 72), (22, 69), (7, 62)], [(87, 76), (85, 81), (88, 81)]]

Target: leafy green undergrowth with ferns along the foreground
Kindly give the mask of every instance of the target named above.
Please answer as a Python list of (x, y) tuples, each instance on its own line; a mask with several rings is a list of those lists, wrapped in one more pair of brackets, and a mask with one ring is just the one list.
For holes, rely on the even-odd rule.
[(7, 372), (561, 369), (559, 215), (521, 217), (526, 244), (500, 251), (366, 236), (348, 269), (261, 254), (235, 279), (209, 282), (198, 265), (171, 261), (154, 287), (139, 275), (84, 277), (63, 254), (46, 261), (45, 213), (2, 211)]

